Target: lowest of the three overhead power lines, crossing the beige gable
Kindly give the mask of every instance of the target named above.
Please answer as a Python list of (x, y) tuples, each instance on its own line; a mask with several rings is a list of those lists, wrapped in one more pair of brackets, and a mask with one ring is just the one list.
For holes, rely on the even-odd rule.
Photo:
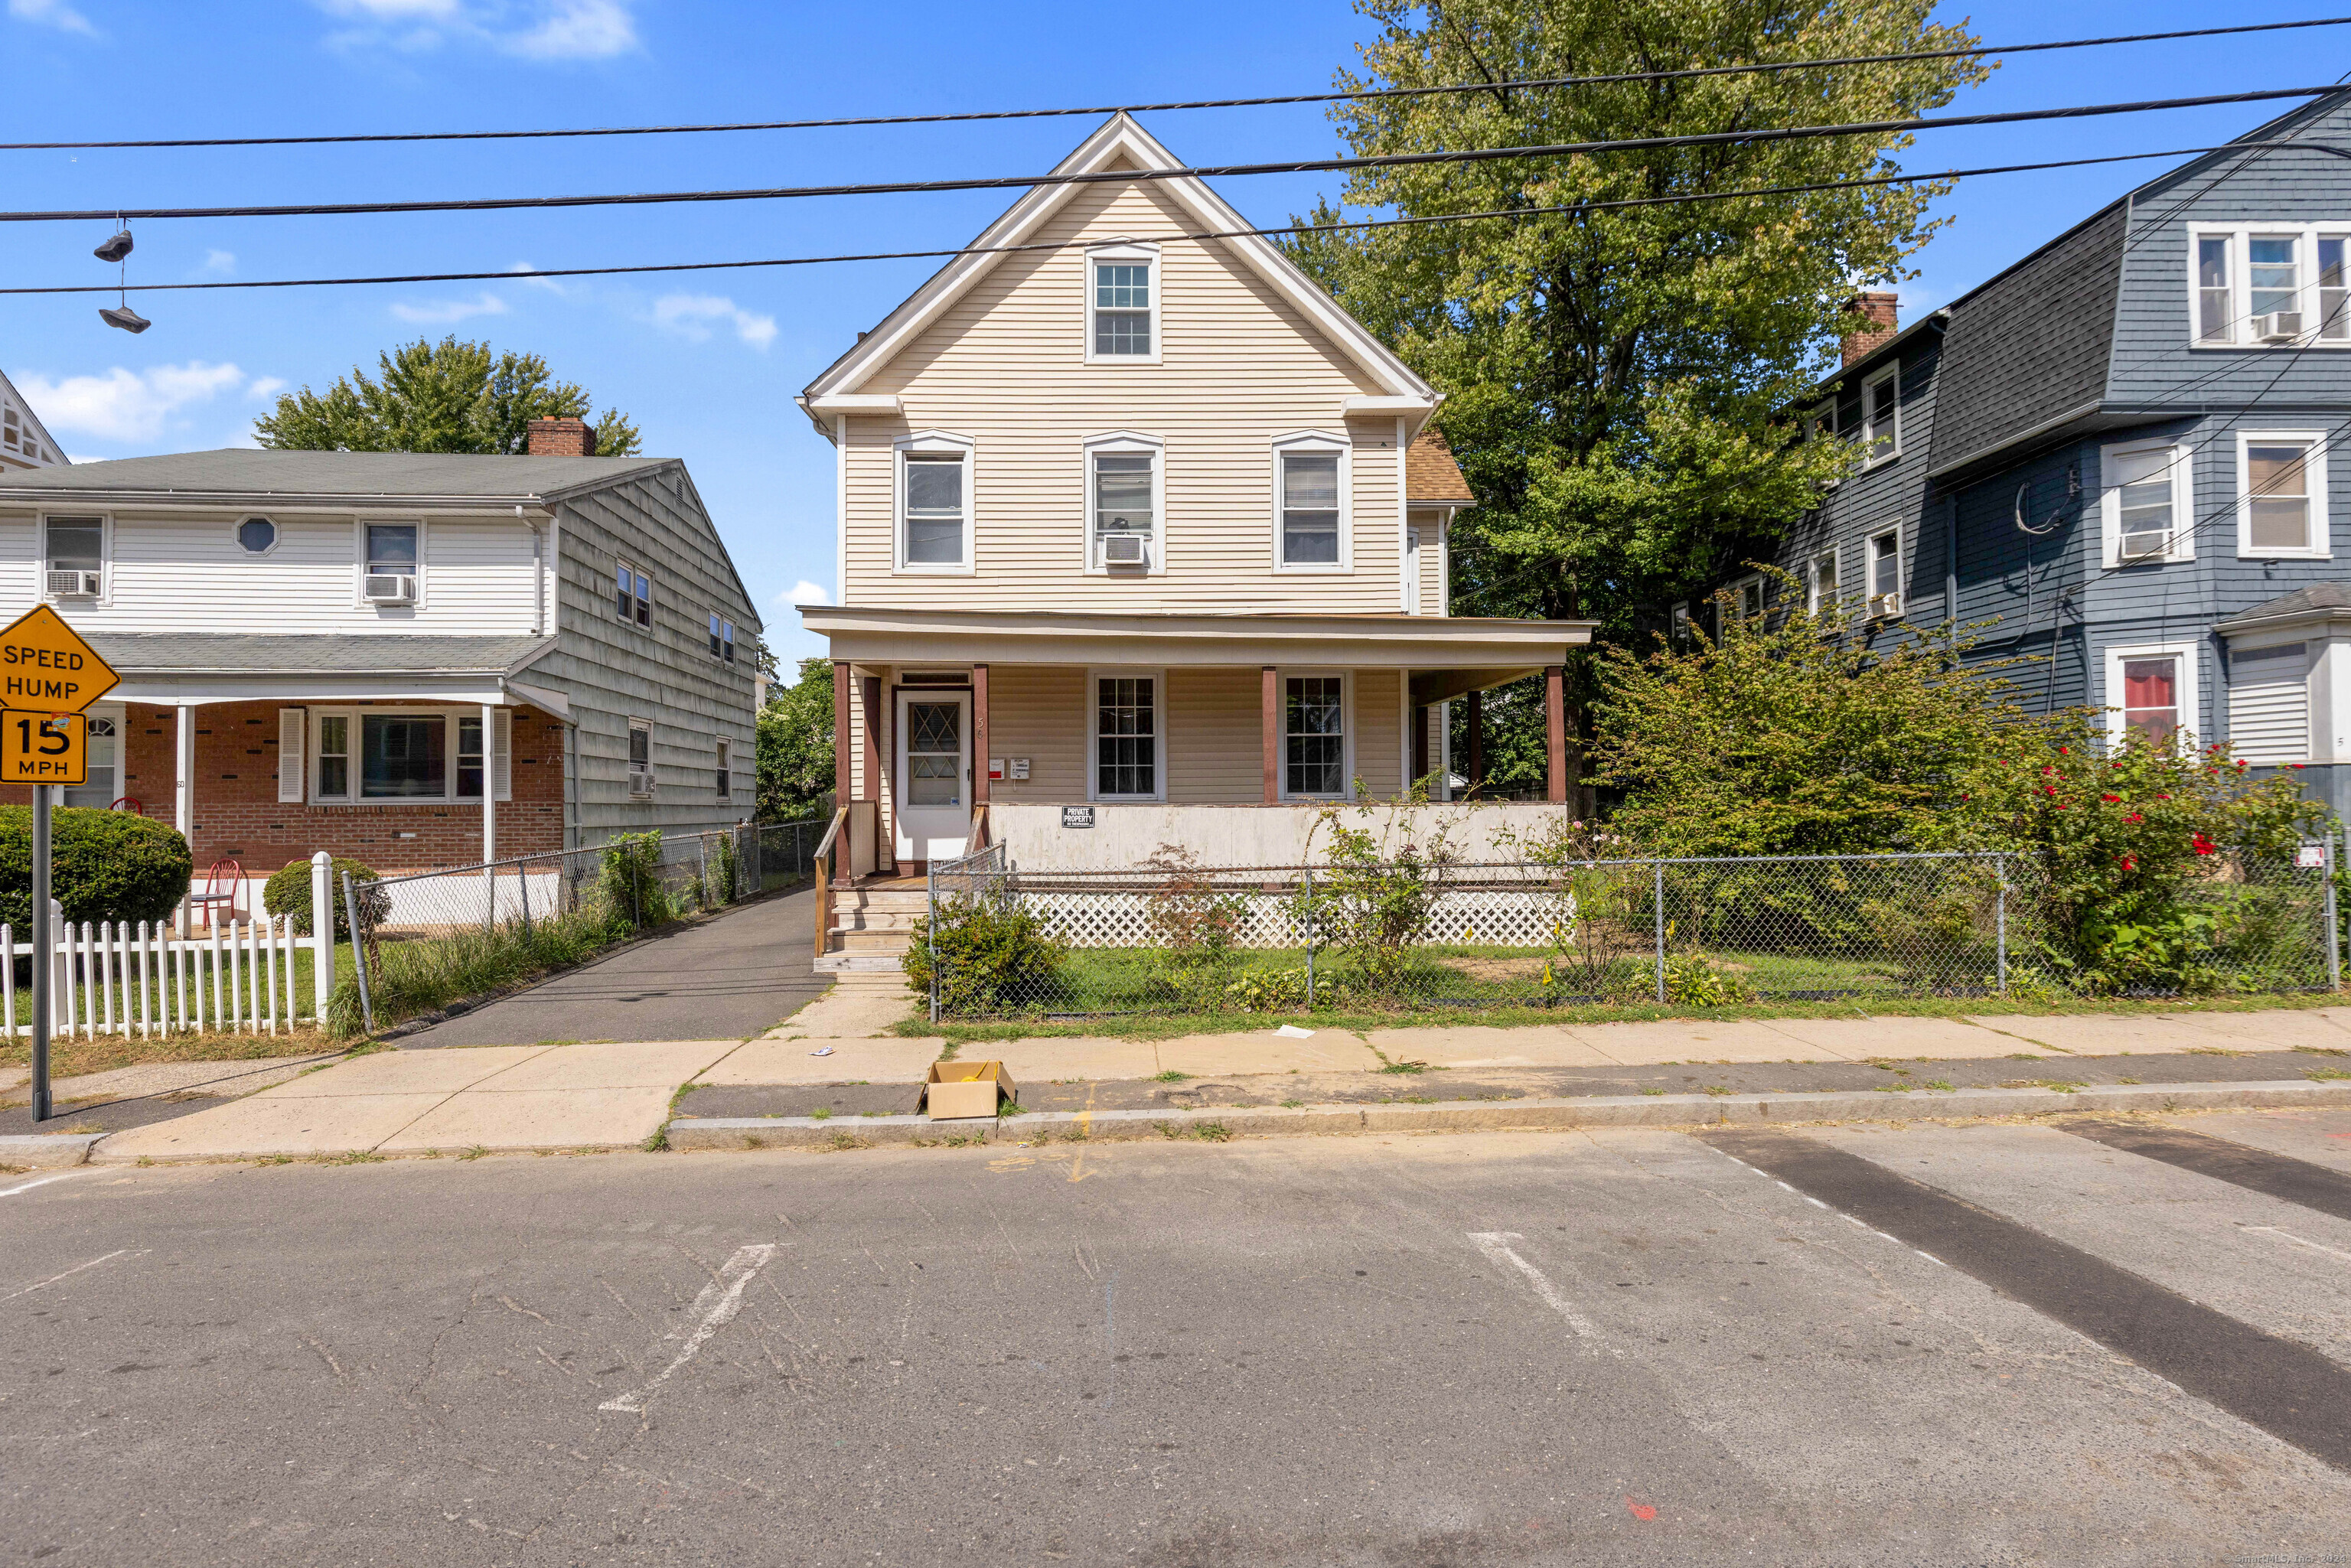
[[(1937, 174), (1869, 174), (1862, 179), (1827, 179), (1806, 186), (1759, 186), (1744, 190), (1688, 190), (1681, 195), (1636, 195), (1610, 202), (1570, 202), (1561, 207), (1495, 207), (1488, 212), (1439, 212), (1425, 216), (1404, 219), (1359, 219), (1352, 223), (1284, 223), (1279, 228), (1215, 228), (1187, 235), (1150, 235), (1152, 240), (1239, 240), (1246, 235), (1326, 235), (1345, 233), (1357, 228), (1404, 228), (1415, 223), (1476, 223), (1486, 219), (1540, 219), (1540, 216), (1563, 216), (1563, 214), (1587, 214), (1587, 212), (1610, 212), (1620, 207), (1679, 207), (1686, 202), (1735, 202), (1740, 197), (1754, 195), (1810, 195), (1822, 190), (1846, 190), (1860, 186), (1914, 186), (1937, 179), (1975, 179), (1982, 174), (2029, 174), (2036, 169), (2081, 169), (2085, 165), (2104, 162), (2137, 162), (2146, 158), (2193, 158), (2201, 153), (2224, 153), (2233, 146), (2252, 146), (2255, 150), (2276, 143), (2236, 143), (2226, 141), (2208, 148), (2168, 148), (2163, 153), (2109, 153), (2104, 158), (2059, 158), (2052, 162), (2015, 162), (1994, 165), (1984, 169), (1942, 169)], [(2342, 153), (2342, 148), (2320, 148), (2318, 143), (2295, 143), (2325, 153)], [(2351, 158), (2351, 153), (2342, 153)], [(397, 282), (529, 282), (534, 277), (614, 277), (625, 273), (734, 273), (748, 268), (776, 268), (776, 266), (828, 266), (839, 261), (943, 261), (955, 256), (1013, 256), (1030, 252), (1060, 252), (1060, 249), (1084, 249), (1098, 244), (1098, 240), (1034, 240), (1027, 244), (962, 244), (947, 249), (924, 249), (924, 252), (849, 252), (837, 256), (771, 256), (762, 261), (658, 261), (644, 266), (571, 266), (571, 268), (503, 268), (496, 273), (397, 273), (381, 277), (240, 277), (223, 282), (155, 282), (155, 284), (132, 284), (150, 294), (183, 294), (202, 289), (324, 289), (324, 287), (360, 287), (360, 284), (397, 284)], [(56, 287), (0, 287), (5, 294), (115, 294), (118, 284), (56, 284)]]

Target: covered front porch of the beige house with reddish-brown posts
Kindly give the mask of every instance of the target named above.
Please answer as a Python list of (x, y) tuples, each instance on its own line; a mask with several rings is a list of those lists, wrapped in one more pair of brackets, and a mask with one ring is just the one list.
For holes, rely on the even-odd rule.
[(1444, 616), (804, 614), (835, 651), (839, 886), (990, 842), (1030, 867), (1133, 865), (1161, 844), (1295, 863), (1326, 804), (1415, 783), (1427, 811), (1474, 795), (1479, 693), (1538, 672), (1563, 804), (1561, 665), (1592, 635)]

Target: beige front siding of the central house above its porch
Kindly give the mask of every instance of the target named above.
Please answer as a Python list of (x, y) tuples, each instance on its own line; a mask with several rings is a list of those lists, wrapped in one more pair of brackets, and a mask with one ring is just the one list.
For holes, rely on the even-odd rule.
[[(1152, 237), (1197, 228), (1161, 190), (1086, 188), (1037, 240)], [(1396, 418), (1347, 421), (1373, 386), (1220, 242), (1166, 240), (1157, 364), (1084, 362), (1084, 249), (1006, 256), (870, 383), (900, 414), (846, 421), (849, 604), (952, 609), (1371, 611), (1399, 595)], [(893, 442), (940, 430), (976, 442), (971, 576), (893, 562)], [(1166, 564), (1084, 569), (1084, 440), (1114, 430), (1164, 447)], [(1345, 576), (1272, 567), (1272, 442), (1352, 440)]]

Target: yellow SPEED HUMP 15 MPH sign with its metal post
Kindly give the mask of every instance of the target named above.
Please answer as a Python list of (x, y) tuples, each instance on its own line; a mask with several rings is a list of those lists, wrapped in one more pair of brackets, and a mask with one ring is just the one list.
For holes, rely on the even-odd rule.
[(122, 684), (113, 665), (47, 604), (0, 630), (0, 773), (33, 785), (33, 1126), (49, 1119), (49, 799), (89, 778), (82, 710)]

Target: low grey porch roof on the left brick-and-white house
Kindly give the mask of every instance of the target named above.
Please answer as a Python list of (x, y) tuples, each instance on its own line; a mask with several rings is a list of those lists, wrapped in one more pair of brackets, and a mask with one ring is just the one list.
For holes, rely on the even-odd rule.
[(545, 635), (89, 632), (89, 646), (122, 675), (113, 701), (129, 703), (520, 698), (567, 708), (510, 679), (555, 651)]

